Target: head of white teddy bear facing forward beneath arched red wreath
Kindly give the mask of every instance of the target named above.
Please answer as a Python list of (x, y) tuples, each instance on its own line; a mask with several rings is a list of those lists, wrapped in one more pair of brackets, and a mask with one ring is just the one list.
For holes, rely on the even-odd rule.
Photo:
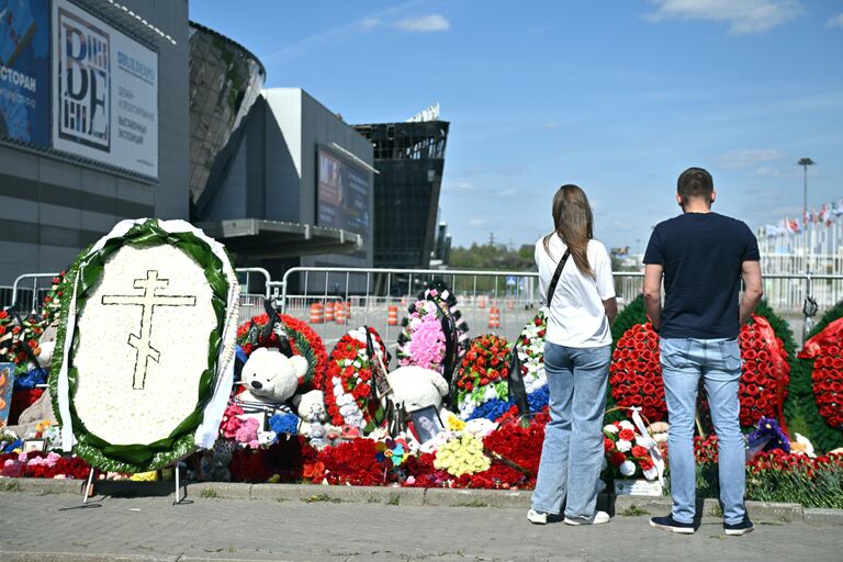
[(310, 363), (302, 356), (286, 357), (276, 348), (262, 347), (249, 356), (240, 379), (246, 391), (238, 395), (245, 403), (280, 404), (295, 394), (299, 380), (307, 373)]

